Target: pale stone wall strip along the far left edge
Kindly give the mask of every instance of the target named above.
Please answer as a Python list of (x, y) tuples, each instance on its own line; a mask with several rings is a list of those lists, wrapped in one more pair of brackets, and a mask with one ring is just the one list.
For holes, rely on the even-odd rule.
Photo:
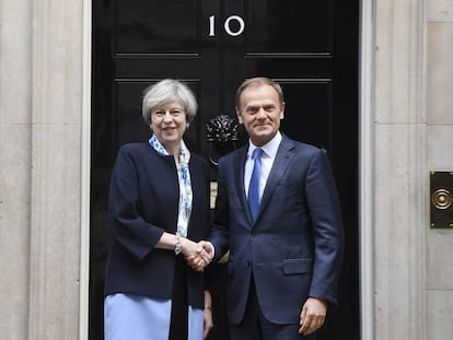
[(0, 338), (27, 338), (32, 4), (0, 4)]

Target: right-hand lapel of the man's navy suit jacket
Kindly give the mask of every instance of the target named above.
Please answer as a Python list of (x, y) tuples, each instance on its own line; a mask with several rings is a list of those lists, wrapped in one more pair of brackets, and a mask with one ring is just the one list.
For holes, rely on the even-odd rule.
[(288, 165), (294, 155), (293, 152), (291, 152), (292, 149), (294, 149), (292, 141), (283, 136), (280, 146), (278, 148), (272, 168), (270, 169), (269, 177), (267, 178), (266, 187), (262, 197), (262, 203), (259, 204), (258, 216), (256, 220), (259, 219), (259, 215), (266, 209), (266, 206), (269, 203), (274, 190), (288, 169)]

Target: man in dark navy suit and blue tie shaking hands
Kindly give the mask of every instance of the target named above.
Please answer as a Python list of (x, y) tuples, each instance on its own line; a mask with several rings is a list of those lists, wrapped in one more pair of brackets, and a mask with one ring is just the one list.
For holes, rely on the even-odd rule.
[(201, 244), (213, 260), (230, 249), (231, 338), (314, 339), (337, 302), (344, 245), (328, 159), (280, 133), (283, 93), (269, 79), (239, 87), (236, 115), (249, 143), (219, 161), (211, 245)]

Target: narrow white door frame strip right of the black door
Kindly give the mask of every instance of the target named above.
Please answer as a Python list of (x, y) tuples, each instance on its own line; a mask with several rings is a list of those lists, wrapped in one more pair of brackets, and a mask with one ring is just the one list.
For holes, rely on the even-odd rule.
[(362, 0), (359, 26), (359, 268), (362, 340), (372, 340), (374, 337), (374, 1)]

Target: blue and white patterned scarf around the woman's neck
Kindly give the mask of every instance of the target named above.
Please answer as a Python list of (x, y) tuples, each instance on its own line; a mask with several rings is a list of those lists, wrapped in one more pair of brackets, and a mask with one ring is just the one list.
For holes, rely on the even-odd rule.
[[(148, 142), (160, 155), (170, 155), (154, 134), (151, 136)], [(176, 233), (184, 237), (187, 236), (187, 227), (190, 219), (193, 200), (190, 172), (188, 167), (189, 160), (190, 152), (188, 151), (184, 141), (181, 140), (179, 164), (176, 166), (177, 177), (179, 181), (179, 209), (177, 215)]]

